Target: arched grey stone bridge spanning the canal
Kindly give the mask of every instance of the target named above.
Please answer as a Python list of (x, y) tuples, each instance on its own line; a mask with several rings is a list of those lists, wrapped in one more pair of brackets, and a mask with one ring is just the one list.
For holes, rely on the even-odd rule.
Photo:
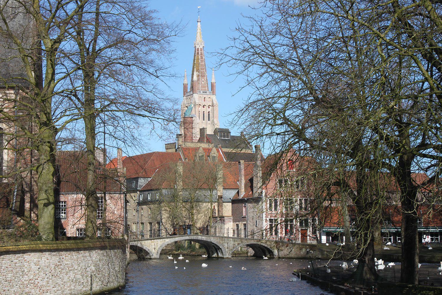
[(275, 257), (278, 250), (274, 241), (262, 241), (250, 238), (206, 236), (200, 234), (185, 234), (177, 236), (167, 236), (158, 238), (144, 238), (130, 242), (130, 249), (137, 253), (140, 259), (160, 258), (160, 252), (164, 246), (175, 241), (193, 241), (204, 247), (207, 257), (230, 258), (233, 251), (248, 246), (255, 253), (255, 257)]

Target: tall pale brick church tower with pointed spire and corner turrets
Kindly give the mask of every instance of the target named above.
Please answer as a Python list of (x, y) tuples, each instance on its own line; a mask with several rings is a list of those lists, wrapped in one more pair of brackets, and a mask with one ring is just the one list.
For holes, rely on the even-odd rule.
[(206, 60), (204, 57), (204, 41), (201, 34), (201, 19), (198, 16), (196, 39), (194, 42), (194, 59), (192, 64), (190, 90), (187, 84), (187, 73), (184, 71), (183, 103), (181, 103), (180, 133), (183, 134), (183, 115), (191, 104), (193, 109), (193, 138), (198, 140), (199, 129), (207, 128), (207, 134), (213, 134), (215, 128), (219, 128), (218, 102), (215, 93), (215, 73), (212, 69), (212, 80), (207, 79)]

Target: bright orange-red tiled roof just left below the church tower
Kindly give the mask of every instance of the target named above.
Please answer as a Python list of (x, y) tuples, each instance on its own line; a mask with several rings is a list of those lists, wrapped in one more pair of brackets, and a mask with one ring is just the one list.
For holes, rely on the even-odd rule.
[[(122, 157), (123, 168), (126, 168), (126, 178), (152, 177), (155, 171), (165, 163), (177, 162), (181, 158), (176, 152), (152, 152), (140, 155)], [(116, 168), (117, 158), (112, 159), (107, 168)]]

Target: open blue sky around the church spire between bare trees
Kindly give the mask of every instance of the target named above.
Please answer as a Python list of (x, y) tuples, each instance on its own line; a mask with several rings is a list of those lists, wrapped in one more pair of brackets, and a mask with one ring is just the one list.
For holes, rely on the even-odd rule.
[[(149, 7), (158, 11), (158, 16), (168, 22), (182, 21), (186, 25), (185, 35), (175, 43), (175, 72), (181, 77), (169, 80), (168, 86), (164, 86), (167, 95), (176, 97), (179, 104), (183, 98), (183, 75), (187, 70), (188, 79), (191, 73), (192, 60), (194, 54), (193, 42), (195, 40), (198, 6), (200, 8), (202, 38), (205, 43), (206, 66), (207, 73), (210, 75), (211, 68), (216, 67), (217, 57), (211, 56), (210, 52), (216, 52), (221, 48), (229, 46), (229, 36), (235, 35), (232, 31), (236, 27), (239, 19), (242, 19), (241, 13), (244, 15), (253, 15), (257, 11), (248, 7), (248, 5), (256, 6), (258, 0), (151, 0)], [(243, 90), (235, 94), (244, 81), (240, 78), (228, 77), (229, 68), (221, 66), (215, 71), (215, 79), (217, 82), (217, 101), (219, 104), (220, 126), (228, 127), (228, 121), (232, 116), (228, 115), (235, 111), (244, 103), (244, 99), (248, 96), (248, 91)], [(210, 77), (209, 77), (210, 79)], [(235, 94), (235, 95), (234, 95)], [(177, 106), (179, 107), (179, 106)], [(231, 128), (233, 134), (238, 134), (240, 128)], [(164, 139), (174, 138), (175, 134), (164, 135), (163, 138), (156, 138), (152, 135), (146, 138), (147, 145), (145, 149), (134, 152), (164, 151)]]

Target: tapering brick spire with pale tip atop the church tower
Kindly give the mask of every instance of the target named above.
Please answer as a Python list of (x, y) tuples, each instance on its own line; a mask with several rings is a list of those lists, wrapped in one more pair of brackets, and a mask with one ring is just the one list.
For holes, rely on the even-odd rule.
[(204, 57), (204, 41), (202, 41), (201, 33), (201, 19), (198, 16), (196, 29), (196, 38), (194, 42), (194, 60), (192, 67), (192, 77), (197, 74), (196, 88), (194, 88), (194, 83), (191, 84), (191, 92), (198, 91), (209, 91), (209, 86), (207, 85), (207, 72), (206, 72), (206, 59)]

